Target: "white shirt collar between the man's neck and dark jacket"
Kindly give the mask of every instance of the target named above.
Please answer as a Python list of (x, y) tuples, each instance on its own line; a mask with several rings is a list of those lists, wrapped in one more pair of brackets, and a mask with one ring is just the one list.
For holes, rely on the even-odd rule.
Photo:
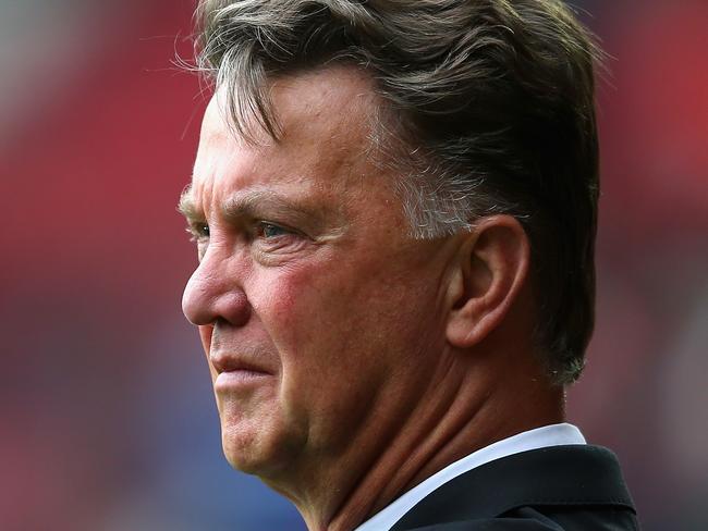
[(536, 428), (497, 441), (432, 474), (366, 520), (355, 531), (388, 531), (432, 491), (473, 468), (521, 452), (564, 444), (585, 444), (585, 437), (573, 424), (562, 423)]

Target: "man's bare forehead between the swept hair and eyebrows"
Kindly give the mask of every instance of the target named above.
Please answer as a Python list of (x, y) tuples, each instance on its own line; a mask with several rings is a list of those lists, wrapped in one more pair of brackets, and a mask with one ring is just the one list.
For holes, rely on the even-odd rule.
[(334, 66), (278, 78), (268, 89), (281, 131), (278, 139), (263, 129), (252, 132), (255, 143), (240, 137), (227, 120), (225, 89), (211, 98), (194, 168), (194, 193), (206, 193), (224, 180), (247, 185), (255, 177), (264, 184), (276, 175), (302, 181), (366, 172), (376, 110), (368, 75)]

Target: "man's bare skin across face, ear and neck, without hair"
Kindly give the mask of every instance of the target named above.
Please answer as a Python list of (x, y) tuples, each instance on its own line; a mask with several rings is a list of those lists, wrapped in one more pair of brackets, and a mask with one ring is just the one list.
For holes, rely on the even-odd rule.
[(533, 353), (518, 223), (411, 238), (370, 149), (368, 77), (270, 88), (278, 140), (237, 138), (219, 92), (206, 111), (180, 207), (199, 252), (183, 310), (229, 462), (310, 530), (350, 530), (464, 455), (561, 421), (562, 392)]

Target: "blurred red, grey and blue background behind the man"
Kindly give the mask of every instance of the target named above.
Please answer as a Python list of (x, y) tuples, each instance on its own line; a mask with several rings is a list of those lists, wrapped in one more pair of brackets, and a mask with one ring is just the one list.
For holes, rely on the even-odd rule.
[[(575, 0), (611, 73), (598, 322), (571, 421), (646, 530), (706, 530), (708, 2)], [(302, 530), (221, 455), (174, 210), (192, 0), (0, 0), (0, 529)]]

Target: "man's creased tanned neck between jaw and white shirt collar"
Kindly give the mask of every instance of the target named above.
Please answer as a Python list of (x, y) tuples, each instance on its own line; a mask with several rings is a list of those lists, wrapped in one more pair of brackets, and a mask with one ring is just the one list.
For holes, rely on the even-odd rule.
[(364, 430), (366, 437), (352, 441), (346, 452), (331, 462), (320, 459), (317, 472), (309, 469), (309, 481), (304, 482), (304, 471), (300, 471), (298, 483), (310, 485), (307, 493), (271, 484), (293, 499), (309, 531), (352, 530), (472, 452), (563, 421), (562, 388), (549, 387), (540, 374), (529, 376), (538, 369), (533, 372), (529, 367), (520, 367), (517, 354), (493, 358), (496, 363), (516, 369), (501, 372), (503, 381), (484, 376), (499, 371), (461, 367), (460, 360), (464, 363), (465, 358), (452, 359), (454, 362), (430, 378), (427, 392), (414, 407), (399, 409), (398, 415), (386, 419), (371, 415), (367, 425), (376, 427), (375, 437), (371, 428)]

